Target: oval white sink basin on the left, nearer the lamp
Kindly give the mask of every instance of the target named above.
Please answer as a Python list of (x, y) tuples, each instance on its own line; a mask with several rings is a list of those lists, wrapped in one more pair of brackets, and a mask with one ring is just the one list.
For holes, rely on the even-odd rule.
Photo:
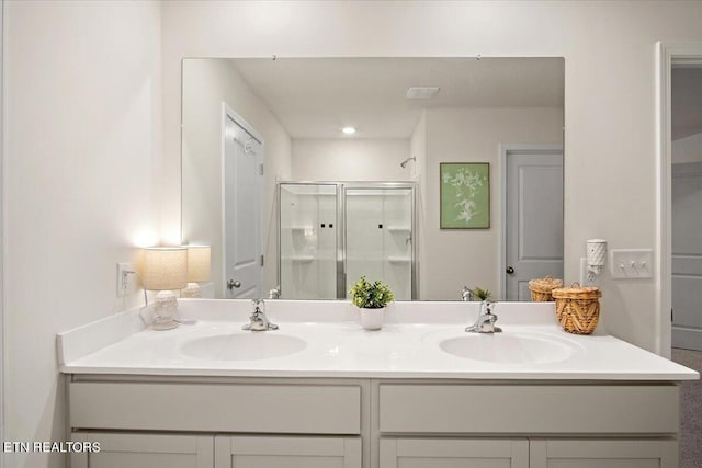
[(256, 361), (283, 357), (303, 351), (304, 340), (274, 332), (216, 334), (197, 338), (181, 345), (190, 357), (213, 361)]

